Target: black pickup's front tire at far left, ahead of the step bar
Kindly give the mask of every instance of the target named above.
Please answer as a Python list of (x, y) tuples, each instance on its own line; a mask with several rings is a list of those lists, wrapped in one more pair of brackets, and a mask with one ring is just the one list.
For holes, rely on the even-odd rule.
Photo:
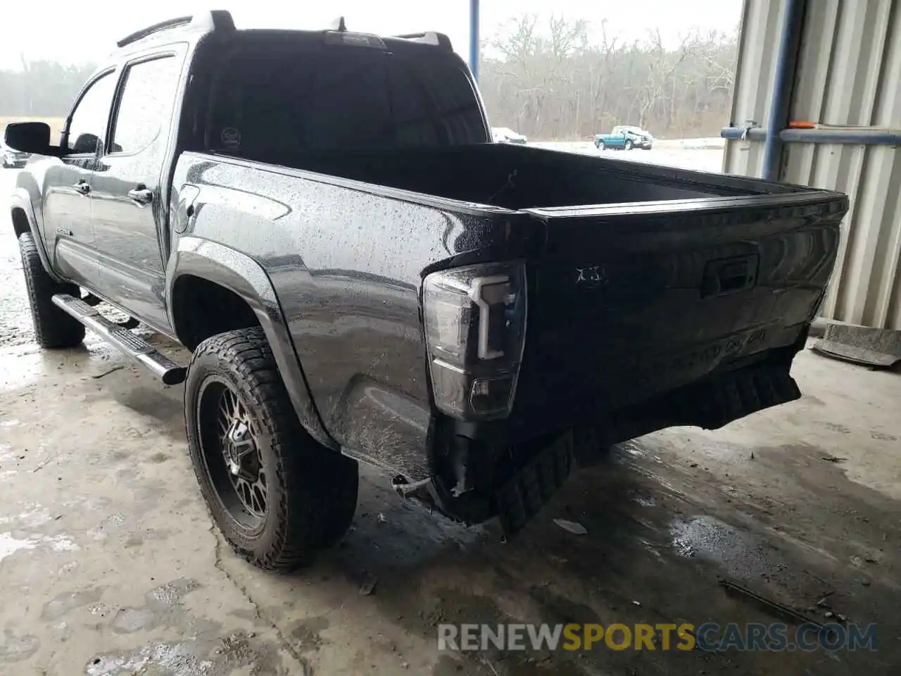
[(75, 284), (61, 284), (47, 274), (32, 233), (19, 235), (19, 251), (22, 253), (28, 303), (32, 306), (35, 341), (47, 349), (75, 347), (85, 340), (85, 325), (53, 305), (53, 297), (56, 294), (78, 297), (78, 287)]

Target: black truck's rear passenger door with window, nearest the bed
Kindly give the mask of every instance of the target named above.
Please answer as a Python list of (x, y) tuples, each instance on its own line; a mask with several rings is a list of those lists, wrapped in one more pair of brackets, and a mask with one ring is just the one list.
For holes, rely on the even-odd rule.
[[(168, 331), (163, 300), (168, 255), (170, 136), (184, 54), (132, 61), (123, 70), (110, 140), (91, 184), (98, 292), (142, 322)], [(164, 175), (165, 174), (165, 175)]]

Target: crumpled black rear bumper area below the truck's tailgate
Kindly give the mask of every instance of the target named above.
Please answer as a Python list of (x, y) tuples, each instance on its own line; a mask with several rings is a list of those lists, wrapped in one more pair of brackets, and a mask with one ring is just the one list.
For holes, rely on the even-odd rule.
[(800, 398), (790, 370), (805, 337), (806, 331), (795, 345), (733, 361), (632, 405), (560, 418), (555, 431), (527, 441), (510, 443), (504, 421), (478, 429), (456, 424), (445, 430), (454, 439), (445, 449), (451, 464), (462, 470), (455, 477), (457, 488), (449, 485), (447, 472), (443, 482), (433, 476), (428, 501), (467, 523), (500, 516), (505, 534), (514, 534), (542, 509), (572, 467), (594, 463), (611, 444), (674, 426), (717, 429)]

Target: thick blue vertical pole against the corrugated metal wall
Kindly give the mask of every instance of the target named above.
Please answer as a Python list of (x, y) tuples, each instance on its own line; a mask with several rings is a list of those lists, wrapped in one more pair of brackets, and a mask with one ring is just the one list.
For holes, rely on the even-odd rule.
[(788, 126), (791, 90), (795, 81), (797, 53), (804, 29), (806, 0), (785, 0), (785, 18), (779, 35), (776, 77), (769, 99), (767, 140), (763, 145), (763, 178), (778, 181), (782, 165), (782, 138), (779, 133)]

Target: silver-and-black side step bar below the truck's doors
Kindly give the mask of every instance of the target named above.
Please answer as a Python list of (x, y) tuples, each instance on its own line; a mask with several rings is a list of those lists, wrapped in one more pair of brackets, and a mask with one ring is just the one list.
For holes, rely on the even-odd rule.
[(124, 326), (117, 324), (104, 315), (96, 307), (89, 306), (81, 298), (57, 294), (53, 297), (53, 305), (58, 306), (67, 315), (72, 315), (86, 328), (98, 333), (108, 343), (125, 352), (134, 361), (150, 369), (154, 375), (166, 385), (177, 385), (184, 382), (187, 369), (178, 366), (165, 354), (159, 352), (140, 335), (132, 333)]

